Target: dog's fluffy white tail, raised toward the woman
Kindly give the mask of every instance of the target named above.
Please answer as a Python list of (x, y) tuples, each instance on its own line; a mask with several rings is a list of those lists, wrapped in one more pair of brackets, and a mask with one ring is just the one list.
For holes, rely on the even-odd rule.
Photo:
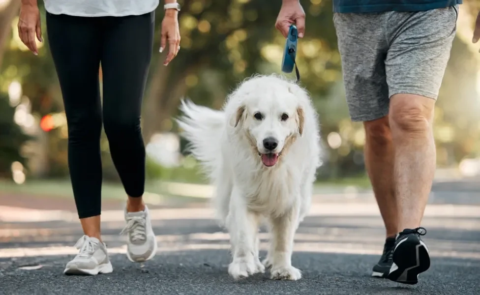
[(225, 126), (225, 115), (189, 100), (182, 100), (180, 110), (183, 115), (177, 119), (181, 136), (189, 141), (187, 149), (201, 162), (204, 172), (215, 182), (216, 171), (221, 167), (219, 139)]

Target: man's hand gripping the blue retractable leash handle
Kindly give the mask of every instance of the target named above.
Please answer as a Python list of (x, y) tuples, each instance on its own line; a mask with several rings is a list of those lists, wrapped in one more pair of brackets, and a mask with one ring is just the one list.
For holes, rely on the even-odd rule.
[(295, 24), (299, 31), (299, 38), (305, 34), (305, 12), (299, 0), (283, 0), (282, 8), (278, 13), (275, 28), (286, 38), (290, 26)]

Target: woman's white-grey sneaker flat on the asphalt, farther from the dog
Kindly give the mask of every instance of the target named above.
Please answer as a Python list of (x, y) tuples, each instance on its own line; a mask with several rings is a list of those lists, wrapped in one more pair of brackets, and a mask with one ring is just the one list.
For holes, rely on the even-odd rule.
[(67, 263), (63, 270), (64, 274), (95, 275), (113, 271), (112, 264), (108, 259), (107, 247), (97, 238), (82, 236), (78, 239), (75, 247), (80, 252)]

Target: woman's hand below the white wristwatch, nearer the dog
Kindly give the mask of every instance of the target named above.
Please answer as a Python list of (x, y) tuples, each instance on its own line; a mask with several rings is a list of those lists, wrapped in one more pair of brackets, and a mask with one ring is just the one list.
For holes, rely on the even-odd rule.
[(168, 42), (168, 55), (163, 61), (163, 65), (168, 65), (174, 59), (180, 50), (180, 29), (178, 20), (178, 11), (176, 9), (167, 9), (162, 21), (162, 39), (160, 42), (160, 52), (163, 52)]

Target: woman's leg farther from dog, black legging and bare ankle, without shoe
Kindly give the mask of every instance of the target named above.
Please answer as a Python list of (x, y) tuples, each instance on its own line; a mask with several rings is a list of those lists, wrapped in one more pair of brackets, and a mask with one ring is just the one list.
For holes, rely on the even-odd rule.
[(100, 32), (94, 19), (47, 13), (47, 34), (67, 118), (75, 204), (84, 233), (100, 239)]

